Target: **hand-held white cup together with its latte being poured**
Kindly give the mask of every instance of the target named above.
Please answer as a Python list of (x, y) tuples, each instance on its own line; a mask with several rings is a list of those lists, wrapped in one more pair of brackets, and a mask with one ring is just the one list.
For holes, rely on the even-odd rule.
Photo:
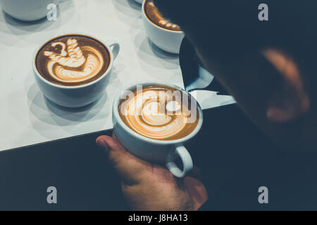
[[(201, 129), (197, 101), (173, 84), (148, 82), (128, 86), (113, 102), (113, 131), (118, 141), (139, 158), (166, 165), (177, 177), (192, 167), (184, 143)], [(182, 169), (175, 160), (182, 160)]]

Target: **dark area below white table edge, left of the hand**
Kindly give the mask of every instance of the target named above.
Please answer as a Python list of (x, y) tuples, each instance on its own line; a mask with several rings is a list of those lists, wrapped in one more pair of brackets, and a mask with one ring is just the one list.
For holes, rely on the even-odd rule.
[[(95, 144), (102, 134), (112, 130), (1, 152), (0, 210), (128, 210), (120, 180)], [(57, 204), (46, 202), (49, 186), (57, 188)]]

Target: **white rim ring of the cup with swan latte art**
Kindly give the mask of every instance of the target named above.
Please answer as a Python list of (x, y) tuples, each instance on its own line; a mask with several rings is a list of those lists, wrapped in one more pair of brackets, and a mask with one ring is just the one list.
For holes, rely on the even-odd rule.
[[(45, 79), (44, 77), (42, 77), (42, 75), (39, 74), (39, 71), (37, 70), (37, 65), (35, 63), (35, 59), (37, 58), (37, 53), (39, 53), (39, 50), (42, 49), (42, 47), (44, 46), (44, 44), (48, 43), (49, 41), (56, 39), (58, 37), (63, 37), (63, 36), (68, 36), (68, 35), (82, 35), (82, 36), (87, 36), (87, 37), (91, 37), (92, 39), (96, 39), (97, 41), (99, 41), (101, 44), (103, 44), (110, 56), (110, 60), (109, 60), (109, 65), (108, 68), (106, 69), (106, 71), (104, 72), (103, 75), (101, 75), (100, 77), (98, 77), (97, 79), (95, 79), (92, 82), (89, 82), (87, 84), (81, 84), (81, 85), (75, 85), (75, 86), (66, 86), (66, 85), (60, 85), (60, 84), (54, 84), (52, 82), (49, 82), (47, 79)], [(101, 39), (100, 37), (98, 37), (97, 35), (92, 35), (92, 34), (87, 34), (87, 33), (81, 33), (81, 32), (74, 32), (74, 33), (66, 33), (66, 34), (56, 34), (54, 35), (54, 37), (51, 37), (50, 39), (46, 40), (46, 41), (42, 41), (41, 44), (39, 44), (36, 48), (35, 48), (35, 52), (33, 53), (33, 57), (32, 57), (32, 68), (33, 71), (35, 72), (35, 74), (37, 75), (37, 77), (39, 77), (39, 79), (42, 80), (42, 82), (49, 84), (50, 86), (54, 86), (56, 88), (59, 89), (82, 89), (85, 88), (87, 86), (91, 86), (93, 84), (96, 84), (97, 82), (101, 81), (101, 79), (103, 79), (104, 77), (106, 77), (106, 75), (108, 75), (108, 72), (111, 71), (112, 65), (113, 65), (113, 53), (111, 51), (110, 46), (108, 46), (108, 44), (106, 44), (107, 42), (104, 41), (104, 39)]]

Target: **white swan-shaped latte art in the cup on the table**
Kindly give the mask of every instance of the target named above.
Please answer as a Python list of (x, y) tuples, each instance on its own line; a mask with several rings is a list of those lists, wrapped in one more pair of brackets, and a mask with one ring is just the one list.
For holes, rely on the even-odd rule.
[[(66, 46), (67, 44), (67, 46)], [(76, 39), (67, 43), (53, 42), (51, 46), (61, 46), (60, 53), (44, 51), (49, 57), (46, 70), (51, 77), (66, 83), (83, 82), (96, 76), (104, 65), (101, 53), (92, 46), (78, 46)]]

